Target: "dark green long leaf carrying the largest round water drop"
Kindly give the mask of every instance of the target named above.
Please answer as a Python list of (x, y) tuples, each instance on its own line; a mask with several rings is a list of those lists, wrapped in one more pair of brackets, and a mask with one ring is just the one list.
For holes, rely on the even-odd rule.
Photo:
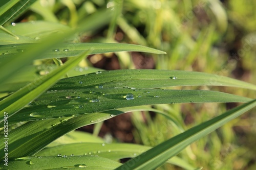
[[(207, 90), (161, 90), (161, 89), (74, 89), (48, 91), (31, 107), (20, 110), (10, 117), (9, 124), (17, 122), (69, 117), (85, 113), (103, 112), (123, 107), (209, 102), (249, 102), (243, 96)], [(132, 96), (132, 100), (127, 100)], [(125, 99), (127, 98), (127, 99)], [(22, 99), (21, 99), (22, 100)], [(10, 108), (13, 109), (13, 107)], [(6, 108), (7, 112), (11, 109)], [(3, 123), (2, 123), (3, 124)]]

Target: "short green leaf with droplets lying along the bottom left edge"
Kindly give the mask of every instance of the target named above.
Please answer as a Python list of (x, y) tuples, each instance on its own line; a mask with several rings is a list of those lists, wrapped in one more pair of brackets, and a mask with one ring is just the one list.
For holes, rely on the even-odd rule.
[[(8, 162), (8, 169), (114, 169), (121, 163), (96, 156), (21, 157)], [(1, 164), (1, 167), (7, 167)]]

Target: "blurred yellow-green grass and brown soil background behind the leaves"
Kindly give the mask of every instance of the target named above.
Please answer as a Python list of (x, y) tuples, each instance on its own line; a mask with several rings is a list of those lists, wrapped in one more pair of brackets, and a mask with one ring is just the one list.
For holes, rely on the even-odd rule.
[[(167, 55), (137, 52), (94, 55), (81, 62), (80, 67), (201, 71), (256, 84), (254, 0), (40, 0), (15, 22), (46, 20), (76, 28), (84, 16), (105, 8), (114, 13), (109, 24), (79, 33), (72, 39), (73, 42), (134, 43), (157, 48)], [(10, 23), (6, 23), (8, 25)], [(239, 88), (193, 88), (256, 97), (255, 92)], [(237, 105), (191, 103), (154, 107), (174, 116), (186, 130)], [(108, 120), (102, 127), (102, 131), (105, 129), (102, 136), (106, 140), (155, 146), (181, 132), (155, 113), (134, 112), (127, 115)], [(255, 120), (254, 109), (195, 142), (179, 156), (204, 169), (256, 169)], [(117, 121), (121, 121), (121, 125), (115, 125), (119, 130), (127, 122), (124, 130), (108, 128)], [(165, 165), (160, 169), (180, 168)]]

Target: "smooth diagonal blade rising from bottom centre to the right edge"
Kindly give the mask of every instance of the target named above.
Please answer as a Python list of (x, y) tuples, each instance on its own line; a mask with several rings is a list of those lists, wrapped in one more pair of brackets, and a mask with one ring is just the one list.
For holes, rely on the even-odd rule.
[(210, 132), (215, 131), (217, 128), (220, 128), (230, 120), (238, 117), (255, 106), (256, 100), (253, 100), (249, 103), (229, 110), (215, 118), (208, 120), (205, 123), (195, 126), (173, 138), (166, 140), (153, 149), (127, 161), (125, 164), (116, 169), (155, 169), (165, 163), (165, 161), (167, 161), (169, 158), (172, 158), (180, 153), (189, 144), (204, 137)]

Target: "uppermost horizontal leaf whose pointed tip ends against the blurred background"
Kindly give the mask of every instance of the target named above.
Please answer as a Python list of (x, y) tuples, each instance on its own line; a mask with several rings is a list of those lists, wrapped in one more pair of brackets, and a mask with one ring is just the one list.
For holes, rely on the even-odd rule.
[[(36, 43), (38, 44), (38, 43)], [(0, 60), (8, 57), (13, 57), (19, 54), (21, 51), (28, 51), (30, 44), (9, 44), (0, 45), (0, 54), (8, 51), (8, 54), (1, 55)], [(78, 56), (82, 52), (91, 49), (90, 54), (110, 53), (110, 52), (145, 52), (155, 54), (166, 54), (160, 50), (154, 48), (124, 43), (64, 43), (57, 45), (49, 51), (45, 51), (44, 55), (41, 55), (38, 59), (48, 58), (62, 58), (62, 57), (74, 57)]]

